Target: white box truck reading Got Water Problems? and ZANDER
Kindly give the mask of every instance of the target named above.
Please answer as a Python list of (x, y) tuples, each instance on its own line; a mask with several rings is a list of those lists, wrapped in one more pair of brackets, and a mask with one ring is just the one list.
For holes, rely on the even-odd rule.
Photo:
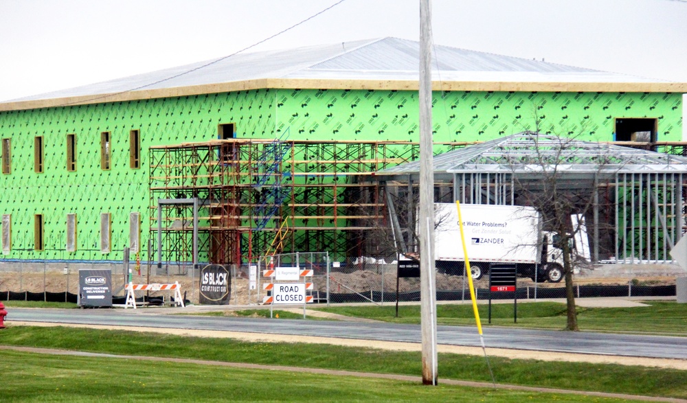
[[(465, 254), (454, 203), (435, 203), (435, 260), (439, 273), (462, 275)], [(473, 279), (488, 273), (490, 263), (513, 263), (521, 277), (559, 282), (563, 251), (557, 235), (541, 231), (533, 207), (460, 205), (467, 255)]]

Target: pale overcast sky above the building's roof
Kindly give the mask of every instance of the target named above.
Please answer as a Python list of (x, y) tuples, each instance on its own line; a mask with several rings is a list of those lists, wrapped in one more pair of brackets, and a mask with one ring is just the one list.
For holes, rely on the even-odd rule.
[[(338, 0), (0, 0), (0, 100), (227, 56)], [(687, 0), (433, 0), (438, 45), (687, 82)], [(344, 0), (251, 51), (418, 40), (419, 0)]]

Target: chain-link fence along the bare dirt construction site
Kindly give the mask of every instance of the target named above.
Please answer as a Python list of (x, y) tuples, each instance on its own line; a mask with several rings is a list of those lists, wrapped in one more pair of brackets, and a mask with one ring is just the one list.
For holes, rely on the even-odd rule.
[[(201, 267), (203, 265), (201, 264)], [(397, 278), (395, 262), (387, 263), (372, 258), (352, 258), (345, 261), (330, 261), (326, 252), (287, 253), (260, 257), (256, 266), (256, 281), (251, 289), (250, 267), (248, 265), (227, 268), (232, 277), (233, 306), (260, 305), (267, 291), (264, 284), (274, 282), (265, 277), (264, 270), (271, 267), (299, 267), (313, 270), (312, 277), (299, 281), (313, 283), (307, 295), (314, 303), (395, 303), (398, 301), (420, 301), (419, 278)], [(642, 270), (643, 265), (628, 265), (630, 268), (617, 270), (603, 265), (593, 270), (584, 269), (574, 275), (573, 291), (576, 298), (587, 297), (672, 297), (676, 295), (677, 277), (687, 277), (679, 270)], [(163, 264), (161, 269), (155, 263), (142, 262), (140, 271), (135, 262), (130, 262), (133, 281), (146, 283), (173, 283), (179, 281), (182, 294), (191, 303), (198, 303), (199, 278), (189, 264)], [(78, 293), (78, 270), (80, 268), (109, 268), (112, 270), (113, 291), (124, 295), (128, 281), (122, 262), (8, 262), (0, 261), (0, 300), (21, 299), (29, 301), (76, 301)], [(150, 270), (150, 271), (148, 271)], [(464, 270), (438, 265), (436, 292), (438, 301), (469, 301), (469, 281)], [(532, 270), (533, 272), (533, 270)], [(150, 273), (150, 275), (148, 274)], [(603, 273), (603, 275), (600, 275)], [(535, 281), (536, 280), (536, 281)], [(477, 299), (490, 298), (489, 277), (473, 281)], [(529, 277), (517, 278), (515, 292), (491, 292), (491, 299), (550, 299), (565, 298), (565, 280), (558, 283)]]

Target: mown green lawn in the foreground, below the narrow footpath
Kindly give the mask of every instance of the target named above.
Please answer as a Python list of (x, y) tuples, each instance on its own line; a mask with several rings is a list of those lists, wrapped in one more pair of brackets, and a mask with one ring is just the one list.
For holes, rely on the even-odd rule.
[(3, 351), (0, 402), (621, 402), (595, 397)]

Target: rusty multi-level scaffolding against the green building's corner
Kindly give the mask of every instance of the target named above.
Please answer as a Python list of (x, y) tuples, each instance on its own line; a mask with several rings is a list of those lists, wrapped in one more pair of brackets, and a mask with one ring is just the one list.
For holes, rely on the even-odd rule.
[[(435, 152), (466, 144), (438, 143)], [(157, 231), (158, 200), (197, 198), (199, 261), (240, 265), (268, 251), (329, 251), (338, 260), (365, 255), (374, 248), (370, 231), (387, 217), (374, 172), (418, 159), (419, 147), (227, 139), (154, 146), (149, 153), (150, 230)], [(190, 211), (161, 208), (162, 260), (189, 262)]]

